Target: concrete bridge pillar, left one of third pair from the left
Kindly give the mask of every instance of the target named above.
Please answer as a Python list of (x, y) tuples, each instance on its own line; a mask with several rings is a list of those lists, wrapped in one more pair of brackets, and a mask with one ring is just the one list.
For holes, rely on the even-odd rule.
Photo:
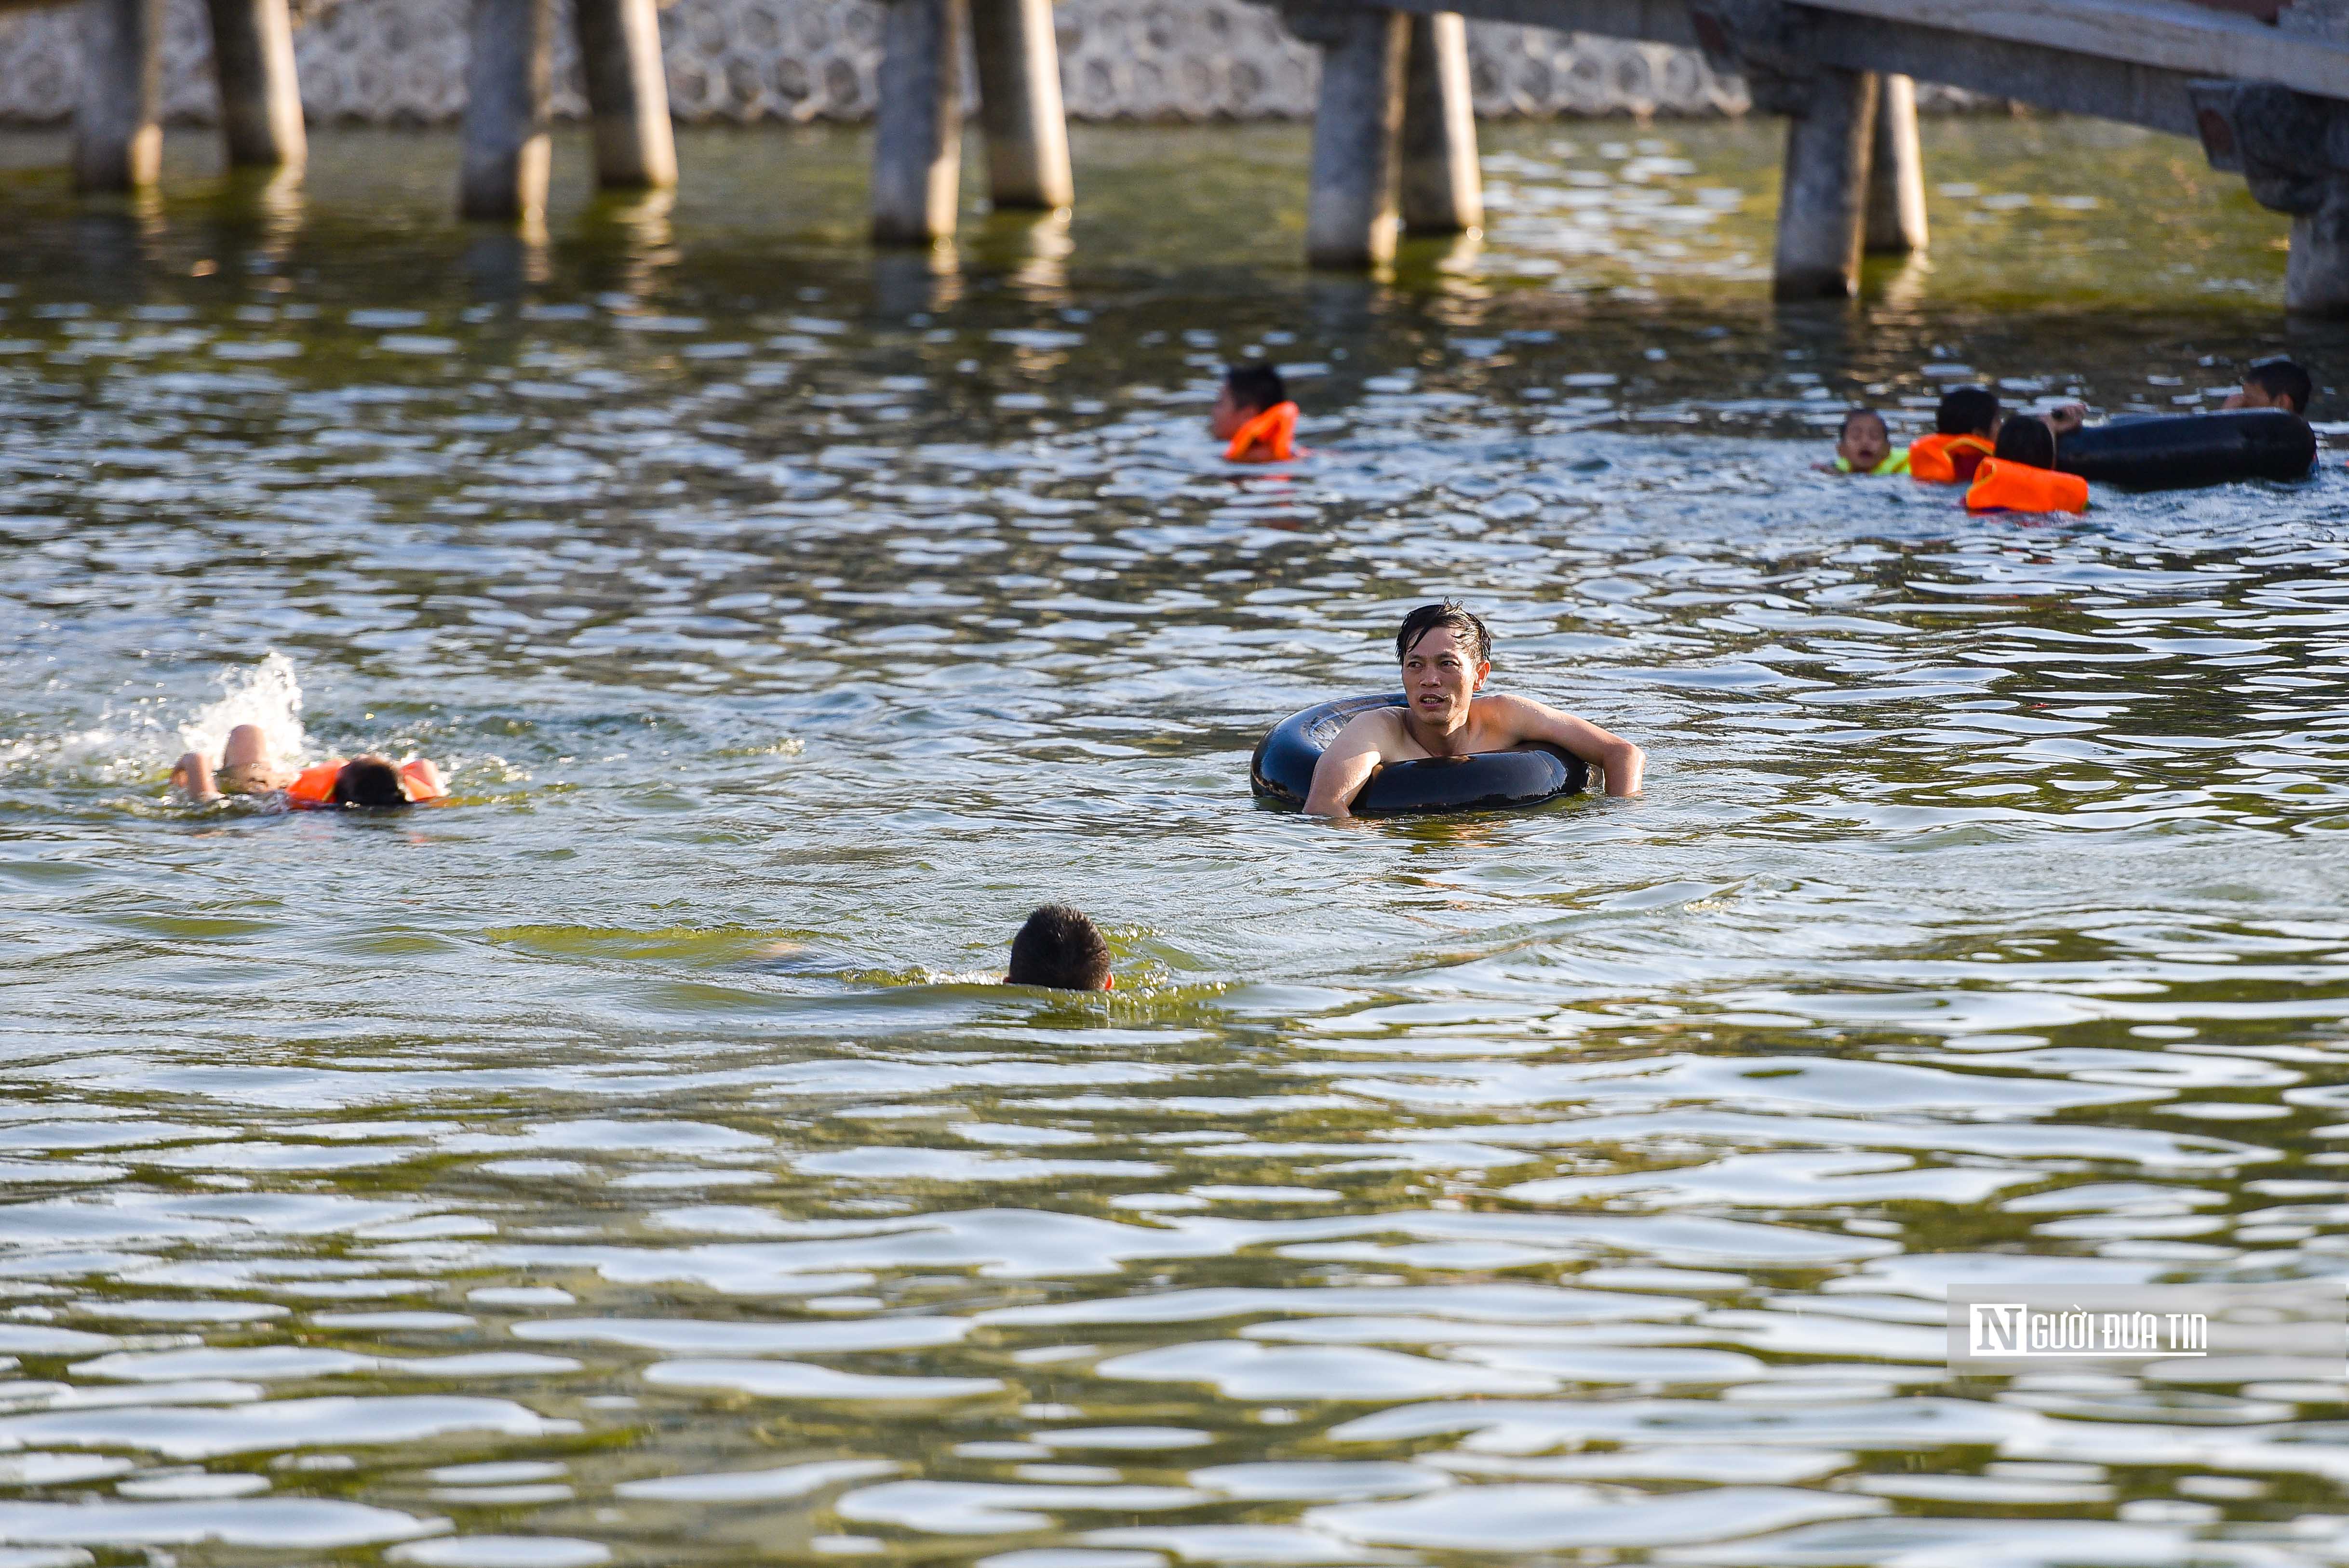
[(954, 237), (963, 183), (968, 0), (888, 0), (874, 108), (874, 239)]

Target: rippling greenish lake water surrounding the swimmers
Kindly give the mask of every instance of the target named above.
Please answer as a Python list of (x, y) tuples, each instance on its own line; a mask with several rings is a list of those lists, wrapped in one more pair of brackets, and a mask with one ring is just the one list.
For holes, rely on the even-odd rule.
[[(449, 136), (0, 251), (0, 1568), (2349, 1556), (2326, 1364), (1954, 1380), (1952, 1282), (2349, 1275), (2349, 481), (1971, 521), (1853, 397), (2210, 406), (2283, 221), (1929, 122), (1938, 249), (1764, 300), (1769, 124), (1489, 127), (1294, 265), (1306, 138), (862, 141), (446, 218)], [(1203, 437), (1297, 366), (1294, 472)], [(2342, 418), (2326, 397), (2321, 418)], [(1637, 800), (1315, 824), (1412, 603)], [(235, 721), (395, 819), (188, 807)], [(991, 986), (1038, 901), (1109, 998)]]

